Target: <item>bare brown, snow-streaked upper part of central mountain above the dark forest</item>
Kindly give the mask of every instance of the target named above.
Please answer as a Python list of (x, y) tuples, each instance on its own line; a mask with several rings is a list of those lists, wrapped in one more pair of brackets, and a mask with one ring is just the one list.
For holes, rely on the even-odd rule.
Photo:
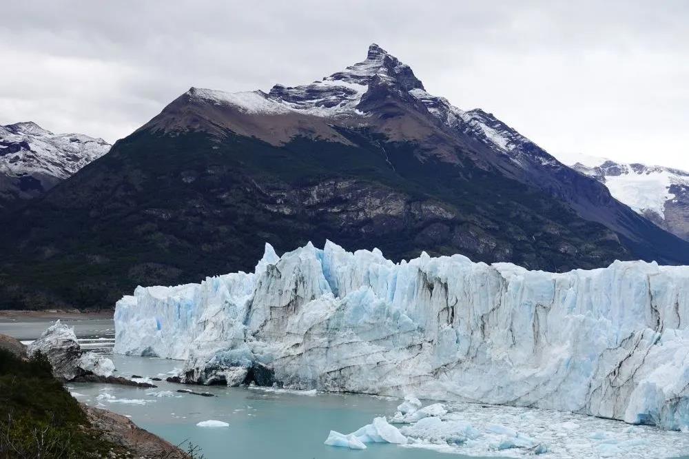
[[(566, 167), (490, 112), (462, 110), (430, 94), (409, 65), (376, 44), (364, 60), (305, 85), (234, 94), (192, 88), (141, 129), (205, 130), (217, 139), (229, 131), (276, 147), (298, 137), (353, 145), (343, 132), (365, 130), (415, 145), (415, 159), (422, 163), (500, 171), (634, 240), (643, 237), (632, 236), (630, 228), (646, 228), (643, 221), (624, 221), (637, 216), (610, 204), (614, 200), (601, 183)], [(601, 206), (612, 207), (606, 213)]]

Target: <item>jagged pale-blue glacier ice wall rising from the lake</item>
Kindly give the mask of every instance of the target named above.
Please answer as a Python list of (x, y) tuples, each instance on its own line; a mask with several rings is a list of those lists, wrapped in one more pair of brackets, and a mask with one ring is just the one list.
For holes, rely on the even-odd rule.
[(187, 359), (192, 377), (260, 365), (293, 389), (686, 429), (688, 324), (689, 267), (553, 274), (426, 254), (393, 263), (328, 242), (280, 258), (268, 247), (255, 273), (138, 287), (116, 305), (115, 351)]

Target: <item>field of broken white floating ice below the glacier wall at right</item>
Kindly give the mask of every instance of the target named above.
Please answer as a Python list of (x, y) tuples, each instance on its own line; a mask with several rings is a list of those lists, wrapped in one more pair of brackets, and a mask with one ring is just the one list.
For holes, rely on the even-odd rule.
[(398, 425), (406, 447), (467, 456), (670, 458), (689, 451), (689, 435), (560, 411), (453, 403), (448, 413)]

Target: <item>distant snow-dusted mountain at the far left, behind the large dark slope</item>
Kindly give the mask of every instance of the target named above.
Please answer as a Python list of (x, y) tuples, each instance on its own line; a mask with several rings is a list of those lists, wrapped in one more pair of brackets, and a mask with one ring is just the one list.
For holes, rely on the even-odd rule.
[(103, 139), (53, 134), (32, 122), (0, 125), (0, 209), (41, 196), (108, 150)]

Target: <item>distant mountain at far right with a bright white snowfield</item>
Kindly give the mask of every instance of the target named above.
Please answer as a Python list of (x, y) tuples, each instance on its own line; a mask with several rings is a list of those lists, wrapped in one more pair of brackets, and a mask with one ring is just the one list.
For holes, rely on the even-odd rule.
[(582, 158), (571, 167), (659, 227), (689, 241), (689, 172), (672, 167)]

